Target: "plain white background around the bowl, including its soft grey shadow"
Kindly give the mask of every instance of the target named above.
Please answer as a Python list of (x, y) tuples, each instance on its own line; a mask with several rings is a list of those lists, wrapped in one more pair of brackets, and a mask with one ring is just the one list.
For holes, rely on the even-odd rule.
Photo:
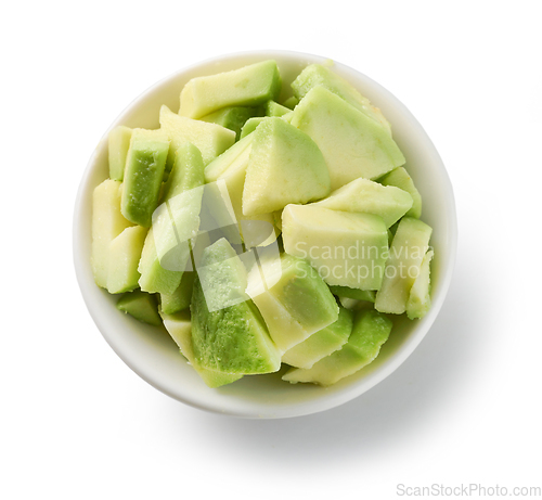
[[(542, 486), (537, 7), (2, 7), (0, 497), (378, 500), (401, 484)], [(325, 55), (396, 94), (448, 167), (460, 228), (447, 303), (414, 355), (350, 403), (280, 421), (209, 414), (139, 379), (92, 323), (72, 258), (76, 190), (113, 119), (186, 65), (256, 49)]]

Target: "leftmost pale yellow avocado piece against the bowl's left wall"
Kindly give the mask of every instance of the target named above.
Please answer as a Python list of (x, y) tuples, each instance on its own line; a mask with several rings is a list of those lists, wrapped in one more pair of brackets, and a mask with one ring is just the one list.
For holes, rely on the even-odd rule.
[(92, 246), (90, 265), (98, 286), (107, 289), (109, 245), (126, 228), (132, 226), (120, 213), (122, 184), (107, 179), (92, 192)]

